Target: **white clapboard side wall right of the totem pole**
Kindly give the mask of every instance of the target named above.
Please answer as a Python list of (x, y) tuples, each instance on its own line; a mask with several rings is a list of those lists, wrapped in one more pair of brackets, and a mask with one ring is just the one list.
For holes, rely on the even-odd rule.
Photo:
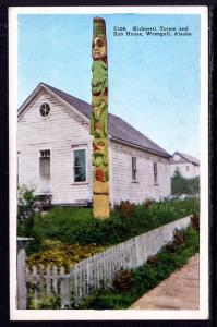
[[(167, 158), (114, 142), (111, 147), (114, 203), (126, 199), (142, 203), (146, 198), (158, 201), (170, 195), (170, 168)], [(132, 181), (132, 157), (137, 158), (136, 182)], [(157, 184), (154, 183), (154, 162), (157, 162)]]

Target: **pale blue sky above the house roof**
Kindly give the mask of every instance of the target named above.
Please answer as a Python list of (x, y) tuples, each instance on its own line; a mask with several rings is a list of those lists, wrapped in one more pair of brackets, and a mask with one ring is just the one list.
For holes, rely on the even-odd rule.
[[(19, 14), (19, 106), (40, 83), (92, 100), (96, 14)], [(200, 15), (100, 14), (108, 43), (109, 112), (173, 154), (200, 156)], [(114, 36), (114, 27), (188, 27), (191, 36)]]

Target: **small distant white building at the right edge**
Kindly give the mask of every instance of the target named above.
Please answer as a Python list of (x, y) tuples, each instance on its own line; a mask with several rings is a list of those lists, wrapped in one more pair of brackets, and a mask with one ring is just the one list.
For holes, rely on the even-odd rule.
[(200, 161), (197, 158), (176, 152), (170, 158), (170, 175), (172, 177), (176, 169), (186, 179), (200, 175)]

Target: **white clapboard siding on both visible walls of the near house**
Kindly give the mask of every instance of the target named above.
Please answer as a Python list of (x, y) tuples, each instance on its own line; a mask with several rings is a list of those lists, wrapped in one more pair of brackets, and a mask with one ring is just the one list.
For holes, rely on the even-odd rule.
[[(51, 112), (41, 118), (39, 106), (49, 101)], [(87, 152), (87, 182), (73, 183), (72, 148)], [(74, 204), (93, 199), (92, 136), (88, 122), (57, 98), (41, 90), (17, 123), (19, 183), (39, 189), (39, 152), (50, 149), (52, 204)], [(109, 141), (110, 203), (129, 199), (141, 203), (170, 194), (169, 159), (132, 146)], [(132, 157), (137, 158), (137, 182), (132, 182)], [(153, 162), (158, 162), (158, 185), (154, 185)]]

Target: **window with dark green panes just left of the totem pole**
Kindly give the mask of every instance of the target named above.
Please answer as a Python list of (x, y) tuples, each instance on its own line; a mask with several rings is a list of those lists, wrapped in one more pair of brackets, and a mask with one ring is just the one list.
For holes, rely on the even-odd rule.
[(86, 181), (86, 152), (85, 149), (73, 150), (74, 182)]

